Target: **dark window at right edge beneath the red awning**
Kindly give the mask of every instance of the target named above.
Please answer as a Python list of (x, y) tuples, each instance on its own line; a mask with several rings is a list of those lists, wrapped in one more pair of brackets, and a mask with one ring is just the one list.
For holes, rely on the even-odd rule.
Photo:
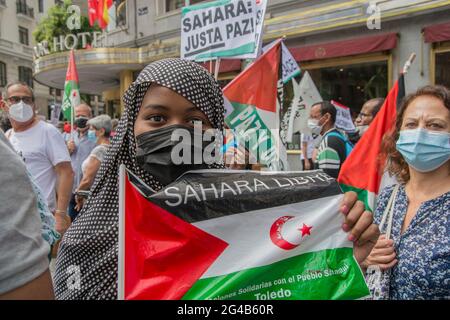
[(434, 52), (431, 65), (431, 76), (434, 84), (444, 85), (450, 88), (450, 42), (434, 44)]

